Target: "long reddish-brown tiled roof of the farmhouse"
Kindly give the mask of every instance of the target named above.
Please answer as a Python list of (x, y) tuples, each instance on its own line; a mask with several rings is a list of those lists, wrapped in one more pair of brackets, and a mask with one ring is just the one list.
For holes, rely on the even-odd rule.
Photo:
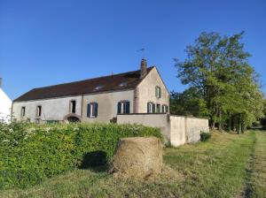
[[(152, 69), (153, 67), (148, 67), (147, 73)], [(20, 95), (14, 102), (133, 89), (137, 87), (141, 80), (140, 70), (118, 73), (95, 79), (75, 81), (44, 88), (34, 88), (26, 94)]]

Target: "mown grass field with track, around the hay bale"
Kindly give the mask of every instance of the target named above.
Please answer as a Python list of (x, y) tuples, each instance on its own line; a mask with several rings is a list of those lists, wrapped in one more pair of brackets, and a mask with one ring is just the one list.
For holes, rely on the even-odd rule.
[[(266, 133), (213, 133), (211, 140), (165, 148), (160, 177), (113, 178), (107, 172), (76, 170), (0, 197), (265, 197)], [(252, 160), (251, 157), (252, 156)], [(248, 165), (248, 166), (247, 166)], [(249, 167), (250, 171), (246, 171)]]

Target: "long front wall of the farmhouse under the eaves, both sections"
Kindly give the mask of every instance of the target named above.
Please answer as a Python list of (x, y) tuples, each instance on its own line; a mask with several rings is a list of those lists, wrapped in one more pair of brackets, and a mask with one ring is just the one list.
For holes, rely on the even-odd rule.
[[(133, 112), (134, 90), (14, 102), (12, 107), (13, 116), (17, 120), (30, 120), (31, 122), (35, 122), (36, 119), (63, 121), (71, 113), (70, 102), (72, 100), (76, 102), (73, 116), (81, 118), (82, 122), (109, 123), (110, 119), (116, 117), (117, 103), (120, 101), (129, 101), (130, 112)], [(98, 103), (98, 117), (88, 118), (87, 105), (93, 102)], [(41, 117), (36, 117), (36, 108), (39, 105), (42, 106), (42, 115)], [(25, 107), (25, 116), (23, 118), (21, 117), (22, 107)]]

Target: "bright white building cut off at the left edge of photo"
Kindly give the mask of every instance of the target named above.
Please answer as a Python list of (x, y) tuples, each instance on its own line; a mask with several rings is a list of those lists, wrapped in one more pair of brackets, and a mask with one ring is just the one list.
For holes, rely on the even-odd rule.
[(12, 100), (0, 88), (0, 121), (7, 122), (11, 116)]

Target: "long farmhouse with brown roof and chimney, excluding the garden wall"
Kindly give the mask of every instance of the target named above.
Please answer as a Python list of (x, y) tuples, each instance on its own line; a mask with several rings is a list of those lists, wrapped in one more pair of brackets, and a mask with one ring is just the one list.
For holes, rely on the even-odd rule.
[(155, 66), (45, 88), (12, 103), (16, 120), (115, 122), (118, 114), (168, 113), (169, 93)]

